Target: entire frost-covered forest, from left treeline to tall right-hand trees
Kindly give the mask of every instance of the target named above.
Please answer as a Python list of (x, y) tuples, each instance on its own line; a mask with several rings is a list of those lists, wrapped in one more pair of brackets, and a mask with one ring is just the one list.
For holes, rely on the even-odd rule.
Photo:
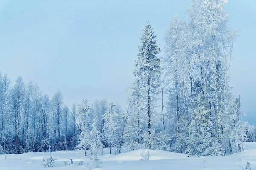
[(35, 82), (0, 74), (0, 153), (43, 152), (50, 145), (52, 151), (90, 150), (96, 160), (106, 147), (112, 154), (123, 148), (204, 156), (244, 150), (243, 142), (256, 142), (256, 128), (240, 120), (240, 96), (229, 86), (239, 34), (229, 26), (226, 4), (194, 0), (188, 22), (170, 18), (163, 47), (145, 21), (123, 108), (106, 98), (90, 104), (86, 96), (68, 108), (61, 91), (50, 99)]

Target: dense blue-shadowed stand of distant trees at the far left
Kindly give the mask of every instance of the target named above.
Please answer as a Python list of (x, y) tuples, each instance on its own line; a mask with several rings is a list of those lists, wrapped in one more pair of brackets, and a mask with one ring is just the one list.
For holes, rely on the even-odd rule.
[[(76, 150), (80, 134), (76, 121), (82, 105), (84, 101), (73, 104), (70, 110), (64, 105), (60, 91), (49, 99), (37, 84), (25, 84), (22, 77), (18, 77), (11, 86), (7, 74), (0, 73), (0, 145), (4, 153), (46, 151), (48, 142), (54, 151)], [(118, 103), (115, 108), (121, 115)], [(102, 116), (108, 109), (107, 99), (95, 100), (88, 109), (87, 126), (98, 116), (97, 127), (103, 134), (105, 119)]]

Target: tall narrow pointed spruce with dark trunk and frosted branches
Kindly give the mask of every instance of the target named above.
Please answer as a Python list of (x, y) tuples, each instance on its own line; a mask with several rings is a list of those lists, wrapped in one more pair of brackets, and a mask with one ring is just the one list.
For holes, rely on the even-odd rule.
[[(149, 21), (146, 23), (143, 30), (142, 37), (140, 37), (139, 46), (139, 57), (135, 61), (134, 75), (135, 82), (140, 85), (140, 91), (134, 93), (137, 97), (137, 102), (143, 114), (143, 118), (146, 121), (146, 127), (143, 127), (143, 140), (146, 148), (154, 148), (152, 146), (154, 142), (154, 120), (156, 116), (155, 103), (156, 96), (159, 90), (159, 79), (160, 79), (160, 59), (157, 54), (160, 53), (160, 47), (157, 45), (156, 35), (151, 28)], [(137, 108), (140, 110), (140, 108)], [(134, 113), (138, 114), (138, 113)]]

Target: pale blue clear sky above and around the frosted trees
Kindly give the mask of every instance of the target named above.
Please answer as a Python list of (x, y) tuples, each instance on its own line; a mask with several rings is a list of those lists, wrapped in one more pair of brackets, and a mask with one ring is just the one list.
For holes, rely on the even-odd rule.
[[(157, 42), (175, 13), (188, 20), (192, 0), (0, 0), (0, 71), (20, 75), (71, 106), (106, 97), (124, 105), (138, 37), (150, 20)], [(234, 45), (230, 85), (256, 125), (256, 0), (230, 0)]]

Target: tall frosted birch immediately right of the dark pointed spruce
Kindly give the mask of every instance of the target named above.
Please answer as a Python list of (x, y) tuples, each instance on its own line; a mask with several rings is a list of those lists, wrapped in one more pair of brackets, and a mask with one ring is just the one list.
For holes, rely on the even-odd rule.
[(184, 150), (184, 142), (186, 142), (188, 124), (187, 82), (190, 71), (190, 42), (187, 27), (183, 20), (178, 20), (177, 14), (173, 17), (165, 35), (165, 55), (163, 57), (164, 77), (171, 88), (168, 91), (170, 94), (168, 95), (169, 101), (167, 103), (172, 106), (167, 107), (167, 111), (176, 120), (176, 134), (173, 134), (176, 141), (174, 148), (175, 151), (181, 153)]

